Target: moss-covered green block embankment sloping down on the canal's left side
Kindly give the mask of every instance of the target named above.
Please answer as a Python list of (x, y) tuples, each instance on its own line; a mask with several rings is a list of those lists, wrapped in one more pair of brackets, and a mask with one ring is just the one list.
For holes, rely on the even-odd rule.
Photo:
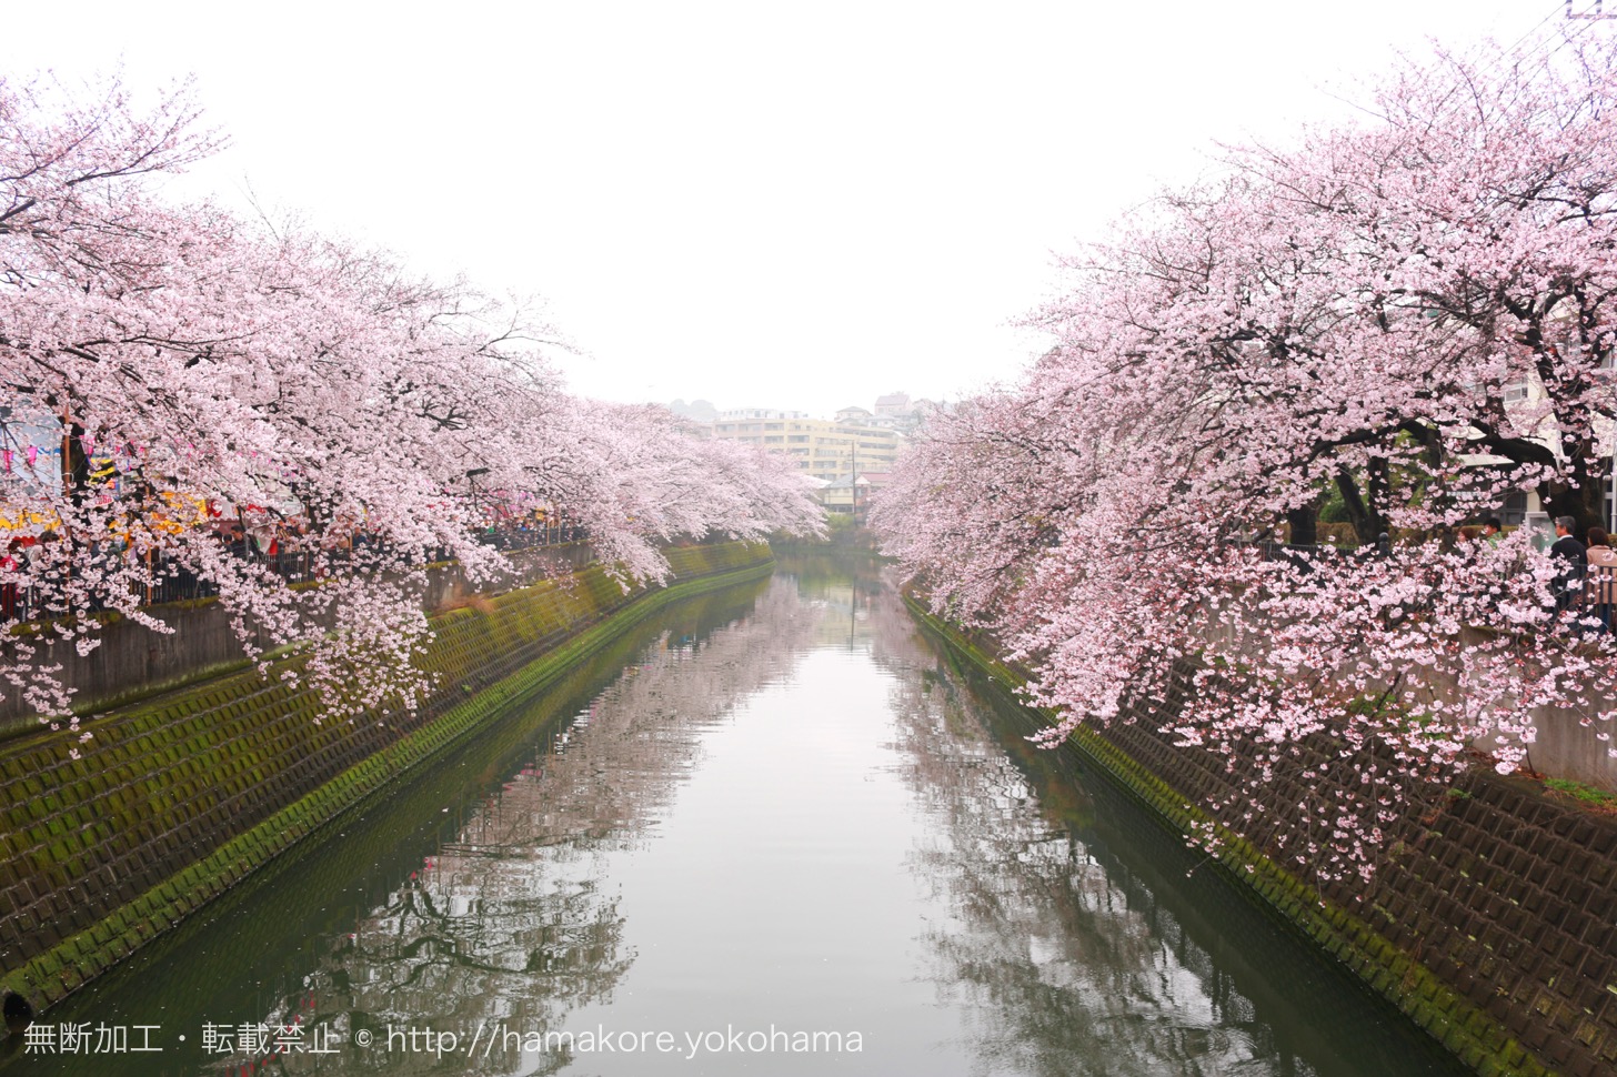
[(0, 742), (0, 996), (39, 1012), (627, 624), (773, 568), (747, 543), (668, 560), (657, 590), (592, 566), (433, 618), (416, 713), (317, 724), (314, 692), (246, 669), (86, 723), (78, 760), (66, 734)]

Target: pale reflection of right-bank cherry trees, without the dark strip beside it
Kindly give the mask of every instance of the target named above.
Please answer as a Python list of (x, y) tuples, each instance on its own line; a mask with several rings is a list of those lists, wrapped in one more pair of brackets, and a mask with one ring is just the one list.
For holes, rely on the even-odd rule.
[(1072, 826), (1082, 791), (1045, 809), (948, 671), (901, 679), (893, 710), (938, 823), (915, 854), (948, 909), (925, 930), (931, 977), (969, 1003), (964, 1046), (985, 1072), (1268, 1072), (1250, 1006), (1210, 996)]

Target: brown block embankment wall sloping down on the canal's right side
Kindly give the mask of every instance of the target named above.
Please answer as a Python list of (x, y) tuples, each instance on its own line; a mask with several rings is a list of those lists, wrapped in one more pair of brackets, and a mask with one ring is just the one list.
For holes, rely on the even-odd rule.
[[(1017, 682), (972, 640), (915, 613), (973, 661)], [(1145, 718), (1080, 728), (1075, 747), (1190, 833), (1197, 804), (1235, 791), (1222, 757), (1176, 747)], [(1269, 788), (1292, 828), (1305, 794)], [(1480, 1074), (1594, 1077), (1617, 1072), (1617, 821), (1476, 771), (1395, 823), (1370, 883), (1323, 888), (1264, 849), (1234, 839), (1229, 878), (1311, 938)]]

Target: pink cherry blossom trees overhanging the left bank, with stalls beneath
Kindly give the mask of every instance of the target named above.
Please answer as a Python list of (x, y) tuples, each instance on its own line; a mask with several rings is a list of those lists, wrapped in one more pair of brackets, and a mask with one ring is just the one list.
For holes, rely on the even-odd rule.
[[(49, 645), (92, 648), (99, 610), (167, 631), (144, 598), (189, 572), (249, 653), (304, 647), (286, 676), (331, 713), (412, 705), (430, 629), (409, 576), (445, 553), (472, 579), (500, 569), (477, 540), (495, 501), (566, 513), (626, 584), (665, 576), (658, 540), (817, 527), (771, 461), (571, 398), (558, 333), (524, 309), (167, 202), (154, 178), (218, 144), (184, 86), (142, 108), (118, 84), (86, 102), (0, 81), (0, 516), (32, 542), (3, 582), (40, 606), (26, 631), (5, 611), (0, 691), (65, 715)], [(220, 516), (294, 545), (323, 585), (239, 556)]]

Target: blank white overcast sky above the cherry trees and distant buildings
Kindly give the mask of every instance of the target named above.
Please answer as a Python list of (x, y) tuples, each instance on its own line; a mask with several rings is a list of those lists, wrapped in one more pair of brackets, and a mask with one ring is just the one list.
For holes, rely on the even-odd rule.
[(1214, 139), (1284, 139), (1394, 49), (1510, 44), (1562, 10), (34, 3), (0, 71), (196, 74), (233, 142), (202, 186), (543, 296), (585, 353), (576, 391), (828, 416), (1014, 377), (1038, 341), (1007, 323), (1053, 252)]

